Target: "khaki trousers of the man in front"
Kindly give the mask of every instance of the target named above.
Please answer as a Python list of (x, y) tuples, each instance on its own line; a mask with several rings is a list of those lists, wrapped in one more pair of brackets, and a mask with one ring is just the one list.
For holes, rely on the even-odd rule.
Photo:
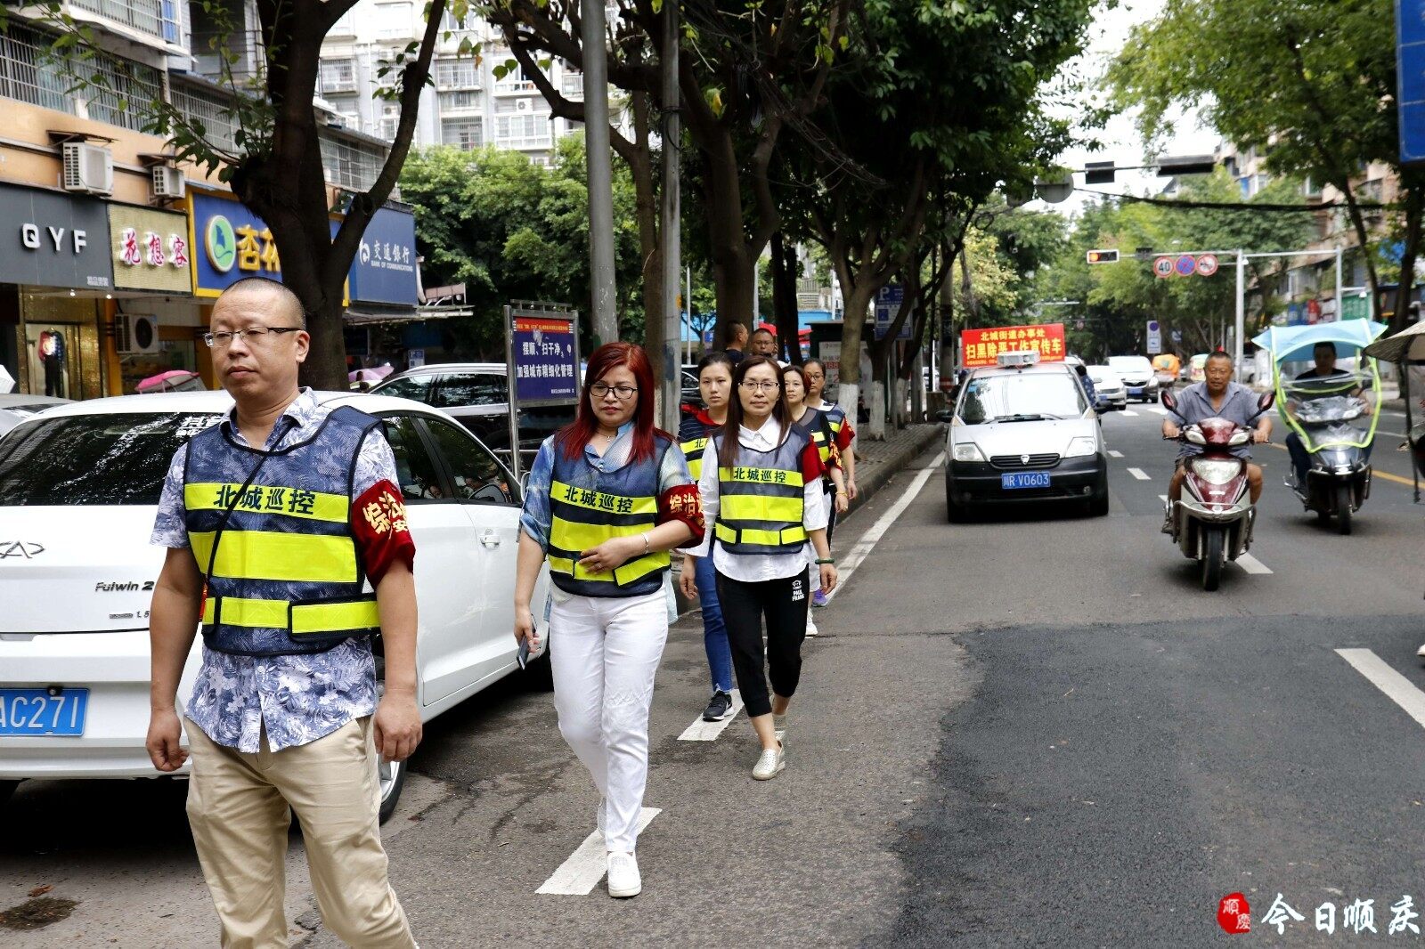
[(188, 824), (222, 923), (222, 946), (286, 949), (288, 807), (302, 822), (322, 922), (358, 949), (412, 949), (380, 845), (370, 718), (314, 742), (256, 754), (214, 742), (188, 722)]

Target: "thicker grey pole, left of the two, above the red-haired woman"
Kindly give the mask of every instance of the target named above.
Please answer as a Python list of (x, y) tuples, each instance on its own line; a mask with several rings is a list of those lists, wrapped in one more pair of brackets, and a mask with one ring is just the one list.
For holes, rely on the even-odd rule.
[(604, 1), (580, 0), (580, 41), (584, 47), (584, 160), (589, 171), (589, 286), (593, 298), (594, 345), (600, 346), (618, 339)]

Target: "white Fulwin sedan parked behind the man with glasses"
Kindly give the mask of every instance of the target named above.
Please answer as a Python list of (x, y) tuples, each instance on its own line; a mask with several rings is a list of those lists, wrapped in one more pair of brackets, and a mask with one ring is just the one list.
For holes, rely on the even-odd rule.
[[(419, 704), (430, 720), (519, 668), (519, 486), (437, 409), (378, 395), (319, 398), (386, 423), (418, 550)], [(144, 737), (148, 608), (164, 550), (148, 537), (174, 450), (231, 405), (222, 392), (76, 402), (0, 443), (0, 804), (24, 778), (158, 775)], [(547, 588), (544, 571), (536, 604)], [(405, 768), (380, 771), (386, 818)]]

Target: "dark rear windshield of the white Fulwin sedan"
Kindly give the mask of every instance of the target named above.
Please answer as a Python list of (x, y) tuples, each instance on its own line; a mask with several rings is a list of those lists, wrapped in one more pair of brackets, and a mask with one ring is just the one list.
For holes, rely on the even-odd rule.
[(221, 413), (33, 419), (0, 442), (0, 504), (157, 504), (178, 446)]

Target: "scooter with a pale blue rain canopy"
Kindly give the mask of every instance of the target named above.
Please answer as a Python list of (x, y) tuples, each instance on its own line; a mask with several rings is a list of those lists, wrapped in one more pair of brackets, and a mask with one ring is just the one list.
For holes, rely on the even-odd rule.
[[(1384, 323), (1351, 319), (1273, 326), (1254, 341), (1271, 351), (1277, 408), (1310, 455), (1305, 479), (1298, 483), (1292, 470), (1285, 484), (1304, 510), (1322, 522), (1335, 517), (1341, 534), (1351, 533), (1352, 516), (1371, 496), (1369, 447), (1381, 418), (1381, 376), (1361, 348), (1384, 331)], [(1330, 376), (1302, 376), (1320, 343), (1331, 343), (1338, 359), (1357, 365)]]

